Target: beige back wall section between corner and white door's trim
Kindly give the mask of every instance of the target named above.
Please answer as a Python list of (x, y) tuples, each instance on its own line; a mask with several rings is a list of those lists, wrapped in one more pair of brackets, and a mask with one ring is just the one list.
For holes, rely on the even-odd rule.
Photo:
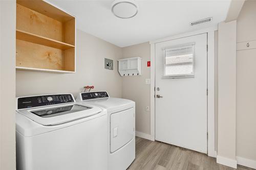
[(122, 98), (136, 102), (136, 131), (150, 134), (150, 84), (145, 84), (145, 79), (150, 79), (150, 43), (145, 42), (122, 48), (122, 58), (141, 57), (142, 75), (122, 77)]

